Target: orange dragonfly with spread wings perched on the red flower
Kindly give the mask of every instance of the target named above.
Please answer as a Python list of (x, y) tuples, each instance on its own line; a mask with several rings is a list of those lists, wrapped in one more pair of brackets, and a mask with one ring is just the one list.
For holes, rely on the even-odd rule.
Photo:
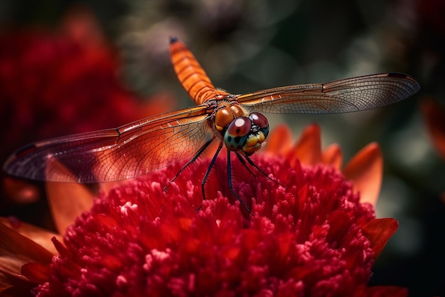
[[(34, 142), (14, 152), (6, 160), (4, 171), (15, 177), (52, 182), (114, 182), (140, 177), (188, 159), (185, 168), (197, 160), (211, 142), (219, 141), (201, 182), (203, 199), (205, 182), (223, 147), (227, 149), (229, 187), (237, 197), (232, 189), (230, 155), (234, 152), (243, 165), (259, 170), (250, 156), (261, 149), (269, 133), (268, 120), (262, 113), (369, 110), (396, 103), (420, 89), (409, 75), (380, 73), (232, 95), (215, 88), (178, 38), (171, 38), (170, 56), (178, 80), (195, 106), (114, 129)], [(53, 161), (66, 170), (49, 166)]]

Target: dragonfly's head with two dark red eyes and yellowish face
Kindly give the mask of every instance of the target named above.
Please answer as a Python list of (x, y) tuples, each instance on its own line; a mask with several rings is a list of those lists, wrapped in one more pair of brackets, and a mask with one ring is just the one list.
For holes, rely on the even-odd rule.
[(232, 120), (224, 133), (224, 144), (227, 150), (242, 150), (252, 155), (262, 147), (269, 134), (269, 122), (261, 113), (251, 113), (249, 117), (238, 117)]

